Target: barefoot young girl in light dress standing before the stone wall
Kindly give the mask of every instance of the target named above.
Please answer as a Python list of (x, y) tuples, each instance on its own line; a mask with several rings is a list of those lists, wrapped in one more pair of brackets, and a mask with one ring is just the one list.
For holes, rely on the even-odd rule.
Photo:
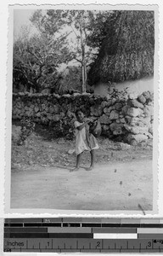
[(87, 171), (92, 170), (94, 166), (94, 149), (98, 149), (98, 143), (93, 134), (89, 133), (90, 119), (84, 117), (81, 109), (76, 110), (76, 168), (71, 172), (75, 172), (79, 169), (81, 163), (82, 152), (85, 150), (91, 153), (91, 166), (87, 168)]

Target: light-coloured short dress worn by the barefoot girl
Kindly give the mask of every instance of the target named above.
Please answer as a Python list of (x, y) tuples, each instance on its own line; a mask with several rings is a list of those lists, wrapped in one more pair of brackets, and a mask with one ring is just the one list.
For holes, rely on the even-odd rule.
[[(77, 128), (82, 125), (75, 121), (74, 125)], [(86, 125), (82, 130), (76, 129), (76, 154), (81, 154), (84, 150), (98, 149), (98, 142), (92, 133), (89, 133), (89, 125)]]

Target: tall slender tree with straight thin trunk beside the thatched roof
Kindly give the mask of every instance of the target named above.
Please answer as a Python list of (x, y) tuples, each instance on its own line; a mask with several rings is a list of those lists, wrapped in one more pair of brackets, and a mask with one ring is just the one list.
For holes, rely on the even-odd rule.
[[(98, 43), (93, 45), (93, 37), (98, 37), (99, 32), (101, 32), (101, 24), (109, 15), (110, 12), (98, 14), (95, 11), (87, 10), (49, 9), (45, 14), (38, 10), (31, 18), (31, 21), (42, 33), (48, 32), (48, 35), (53, 35), (58, 30), (66, 29), (70, 32), (70, 36), (75, 36), (75, 40), (71, 38), (69, 42), (70, 54), (82, 66), (82, 92), (86, 92), (87, 66), (96, 56), (99, 46)], [(55, 26), (53, 26), (54, 24)], [(95, 26), (98, 27), (98, 30), (95, 29)], [(90, 33), (93, 34), (92, 37), (90, 37)]]

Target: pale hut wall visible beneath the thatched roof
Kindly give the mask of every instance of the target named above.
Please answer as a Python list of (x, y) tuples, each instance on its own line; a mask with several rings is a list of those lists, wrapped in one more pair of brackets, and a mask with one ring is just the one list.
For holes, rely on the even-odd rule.
[[(150, 92), (154, 91), (154, 77), (138, 79), (134, 81), (126, 81), (117, 84), (112, 84), (110, 90), (113, 88), (121, 91), (126, 89), (127, 92), (134, 93), (135, 96), (143, 93), (143, 91), (149, 90)], [(104, 83), (98, 83), (94, 85), (94, 94), (100, 96), (106, 96), (109, 93), (109, 85)]]

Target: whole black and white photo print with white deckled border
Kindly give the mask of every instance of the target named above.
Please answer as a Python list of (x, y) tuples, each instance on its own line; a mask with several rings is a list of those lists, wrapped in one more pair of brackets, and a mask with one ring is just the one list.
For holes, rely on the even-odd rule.
[(155, 212), (157, 9), (10, 15), (10, 209)]

